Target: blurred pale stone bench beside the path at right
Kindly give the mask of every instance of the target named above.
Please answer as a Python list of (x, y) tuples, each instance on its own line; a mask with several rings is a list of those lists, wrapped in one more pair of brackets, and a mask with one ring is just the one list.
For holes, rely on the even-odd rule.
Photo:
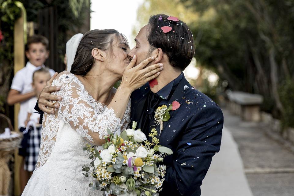
[(245, 121), (259, 122), (261, 120), (260, 105), (263, 96), (240, 91), (228, 91), (230, 110)]

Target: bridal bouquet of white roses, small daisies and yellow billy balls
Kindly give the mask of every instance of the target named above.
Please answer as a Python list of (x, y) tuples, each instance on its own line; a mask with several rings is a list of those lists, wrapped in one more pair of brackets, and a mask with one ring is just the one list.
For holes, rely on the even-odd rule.
[[(157, 196), (162, 189), (166, 166), (158, 165), (171, 149), (160, 146), (157, 131), (151, 130), (147, 138), (140, 129), (124, 130), (120, 135), (108, 133), (103, 150), (91, 145), (84, 148), (92, 160), (83, 166), (83, 175), (94, 179), (89, 187), (120, 196)], [(157, 166), (158, 165), (158, 166)]]

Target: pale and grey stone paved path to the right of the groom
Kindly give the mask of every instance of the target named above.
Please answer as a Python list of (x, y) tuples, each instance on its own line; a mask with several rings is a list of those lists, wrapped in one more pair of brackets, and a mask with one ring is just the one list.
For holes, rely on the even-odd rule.
[(269, 138), (263, 123), (244, 122), (226, 109), (223, 113), (220, 152), (213, 156), (202, 195), (294, 196), (294, 153)]

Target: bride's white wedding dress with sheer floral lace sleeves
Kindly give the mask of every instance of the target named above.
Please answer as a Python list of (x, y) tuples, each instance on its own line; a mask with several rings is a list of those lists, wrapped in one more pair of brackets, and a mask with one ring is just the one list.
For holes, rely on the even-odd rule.
[(53, 94), (61, 96), (62, 101), (55, 115), (43, 117), (38, 163), (22, 195), (102, 195), (89, 188), (92, 177), (82, 174), (82, 166), (90, 162), (83, 147), (92, 143), (94, 134), (102, 139), (107, 129), (126, 129), (130, 101), (121, 121), (113, 109), (94, 100), (74, 74), (63, 72), (52, 85), (61, 86)]

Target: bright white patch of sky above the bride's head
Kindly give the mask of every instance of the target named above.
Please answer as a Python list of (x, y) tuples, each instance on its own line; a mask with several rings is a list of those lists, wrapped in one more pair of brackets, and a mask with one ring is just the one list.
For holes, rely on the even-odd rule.
[(107, 0), (91, 1), (91, 30), (92, 29), (116, 29), (124, 34), (134, 47), (132, 29), (137, 19), (138, 7), (143, 0)]

